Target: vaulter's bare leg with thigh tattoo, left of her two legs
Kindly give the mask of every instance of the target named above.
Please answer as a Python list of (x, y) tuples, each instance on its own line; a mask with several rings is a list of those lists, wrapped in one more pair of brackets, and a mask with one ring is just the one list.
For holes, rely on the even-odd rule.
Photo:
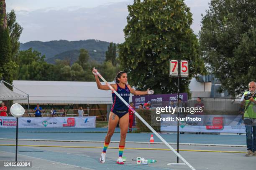
[(108, 133), (105, 137), (105, 143), (110, 143), (110, 139), (115, 132), (115, 127), (118, 124), (119, 117), (113, 112), (110, 112), (108, 118)]

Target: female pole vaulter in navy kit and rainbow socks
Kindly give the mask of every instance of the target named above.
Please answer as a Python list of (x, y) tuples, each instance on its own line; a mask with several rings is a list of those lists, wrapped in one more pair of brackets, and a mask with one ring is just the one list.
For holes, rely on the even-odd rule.
[[(98, 89), (110, 90), (110, 87), (108, 87), (108, 85), (102, 85), (100, 83), (99, 77), (97, 76), (96, 72), (97, 70), (93, 67), (92, 73), (95, 75), (95, 80), (96, 80)], [(118, 92), (118, 94), (121, 97), (123, 97), (123, 99), (126, 102), (129, 102), (130, 92), (133, 93), (134, 95), (154, 94), (154, 90), (149, 90), (149, 88), (147, 91), (138, 91), (131, 88), (131, 86), (127, 84), (127, 74), (124, 71), (118, 72), (115, 77), (115, 84), (110, 84), (110, 85)], [(123, 156), (123, 150), (125, 147), (126, 133), (128, 131), (128, 124), (129, 124), (128, 107), (113, 92), (112, 92), (112, 99), (113, 99), (113, 104), (111, 107), (109, 120), (108, 120), (108, 133), (105, 137), (104, 147), (100, 156), (100, 162), (105, 163), (106, 151), (110, 143), (110, 139), (115, 131), (115, 127), (119, 121), (120, 143), (119, 143), (119, 156), (116, 163), (124, 164), (122, 156)]]

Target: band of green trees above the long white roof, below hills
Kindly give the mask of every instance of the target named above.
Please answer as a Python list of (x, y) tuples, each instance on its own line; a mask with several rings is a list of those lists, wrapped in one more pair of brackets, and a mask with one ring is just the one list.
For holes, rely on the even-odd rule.
[(119, 67), (114, 67), (111, 61), (102, 65), (88, 61), (89, 57), (87, 51), (81, 49), (77, 62), (71, 64), (69, 60), (57, 59), (53, 65), (45, 62), (45, 56), (32, 48), (20, 51), (17, 57), (17, 80), (95, 81), (92, 67), (97, 67), (106, 80), (113, 81)]

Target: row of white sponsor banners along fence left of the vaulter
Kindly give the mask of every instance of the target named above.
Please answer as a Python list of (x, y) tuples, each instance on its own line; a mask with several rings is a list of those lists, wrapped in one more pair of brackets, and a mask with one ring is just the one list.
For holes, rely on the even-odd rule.
[[(95, 128), (96, 117), (20, 117), (19, 128)], [(15, 117), (0, 117), (0, 128), (16, 128)]]

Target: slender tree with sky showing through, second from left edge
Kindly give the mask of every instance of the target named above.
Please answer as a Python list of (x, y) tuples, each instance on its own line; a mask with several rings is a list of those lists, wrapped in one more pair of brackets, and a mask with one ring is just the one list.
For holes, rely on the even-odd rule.
[(7, 23), (10, 33), (10, 43), (12, 50), (12, 59), (15, 61), (15, 56), (18, 54), (20, 49), (20, 35), (23, 28), (16, 22), (16, 15), (14, 10), (11, 10), (10, 13), (7, 13)]

